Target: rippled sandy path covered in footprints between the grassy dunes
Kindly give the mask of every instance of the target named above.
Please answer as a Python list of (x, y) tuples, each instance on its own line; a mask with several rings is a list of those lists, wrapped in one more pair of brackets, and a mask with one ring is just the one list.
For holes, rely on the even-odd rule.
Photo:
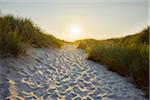
[(1, 98), (144, 100), (142, 91), (104, 66), (86, 60), (87, 54), (74, 46), (36, 49), (32, 54), (35, 61), (12, 58), (0, 62)]

